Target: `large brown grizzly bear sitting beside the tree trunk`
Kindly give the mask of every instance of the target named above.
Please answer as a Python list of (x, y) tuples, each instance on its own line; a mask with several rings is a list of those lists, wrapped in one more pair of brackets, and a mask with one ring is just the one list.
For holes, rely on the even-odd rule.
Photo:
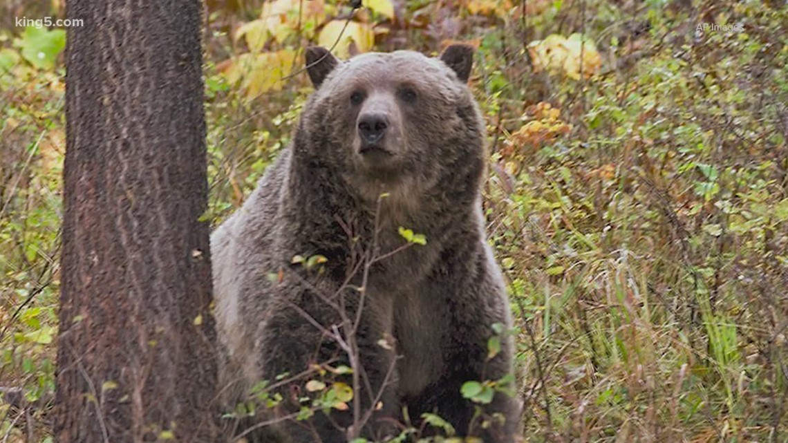
[[(274, 399), (247, 439), (382, 439), (433, 413), (456, 435), (514, 440), (511, 394), (474, 403), (461, 393), (511, 374), (514, 353), (485, 238), (473, 54), (457, 44), (438, 58), (339, 61), (307, 49), (316, 91), (292, 146), (211, 236), (225, 400), (258, 395), (263, 380)], [(338, 382), (355, 389), (324, 397), (335, 407), (304, 400)]]

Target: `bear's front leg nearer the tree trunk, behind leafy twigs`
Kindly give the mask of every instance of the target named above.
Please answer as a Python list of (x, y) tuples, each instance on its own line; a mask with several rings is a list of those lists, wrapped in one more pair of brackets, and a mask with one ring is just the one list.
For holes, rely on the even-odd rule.
[[(355, 290), (331, 300), (305, 292), (294, 300), (299, 303), (276, 307), (277, 314), (260, 334), (266, 337), (261, 352), (267, 377), (307, 371), (279, 389), (284, 401), (278, 415), (288, 419), (277, 428), (293, 443), (344, 443), (353, 436), (375, 441), (392, 435), (400, 408), (395, 354), (386, 343), (391, 337), (388, 307), (366, 300), (356, 317), (360, 297)], [(308, 417), (293, 417), (299, 411)]]

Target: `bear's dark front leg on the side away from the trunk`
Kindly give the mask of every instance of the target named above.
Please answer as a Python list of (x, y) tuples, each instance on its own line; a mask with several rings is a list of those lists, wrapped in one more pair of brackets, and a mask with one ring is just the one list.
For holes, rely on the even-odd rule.
[[(424, 412), (436, 413), (451, 423), (459, 436), (508, 443), (519, 427), (519, 401), (496, 391), (489, 402), (485, 403), (484, 396), (474, 402), (463, 398), (461, 392), (466, 382), (500, 381), (512, 373), (514, 360), (513, 340), (507, 333), (511, 318), (500, 272), (490, 251), (467, 248), (460, 245), (452, 254), (444, 254), (440, 267), (426, 279), (418, 296), (407, 300), (411, 311), (402, 315), (405, 320), (397, 322), (403, 367), (412, 367), (409, 374), (418, 374), (414, 371), (419, 364), (433, 368), (423, 387), (401, 382), (409, 388), (403, 403), (414, 423)], [(429, 312), (434, 321), (414, 314), (424, 312)], [(408, 318), (417, 321), (406, 321)], [(500, 346), (490, 352), (488, 344), (496, 335), (495, 324), (503, 330)], [(431, 345), (420, 344), (431, 337), (440, 338)], [(427, 352), (430, 349), (433, 351)], [(440, 357), (435, 356), (436, 350)]]

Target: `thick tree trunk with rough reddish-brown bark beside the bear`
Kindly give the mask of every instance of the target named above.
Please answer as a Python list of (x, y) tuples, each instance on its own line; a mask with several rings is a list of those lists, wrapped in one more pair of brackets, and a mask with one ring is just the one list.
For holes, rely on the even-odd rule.
[(217, 441), (201, 3), (69, 0), (58, 441)]

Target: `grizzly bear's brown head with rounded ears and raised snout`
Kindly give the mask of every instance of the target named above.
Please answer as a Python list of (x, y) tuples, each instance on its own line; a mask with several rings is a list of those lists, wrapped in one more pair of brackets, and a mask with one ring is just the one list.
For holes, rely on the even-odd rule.
[(473, 47), (455, 44), (437, 58), (398, 50), (339, 61), (323, 47), (306, 55), (316, 91), (296, 132), (296, 155), (365, 200), (478, 190), (485, 150), (466, 86)]

